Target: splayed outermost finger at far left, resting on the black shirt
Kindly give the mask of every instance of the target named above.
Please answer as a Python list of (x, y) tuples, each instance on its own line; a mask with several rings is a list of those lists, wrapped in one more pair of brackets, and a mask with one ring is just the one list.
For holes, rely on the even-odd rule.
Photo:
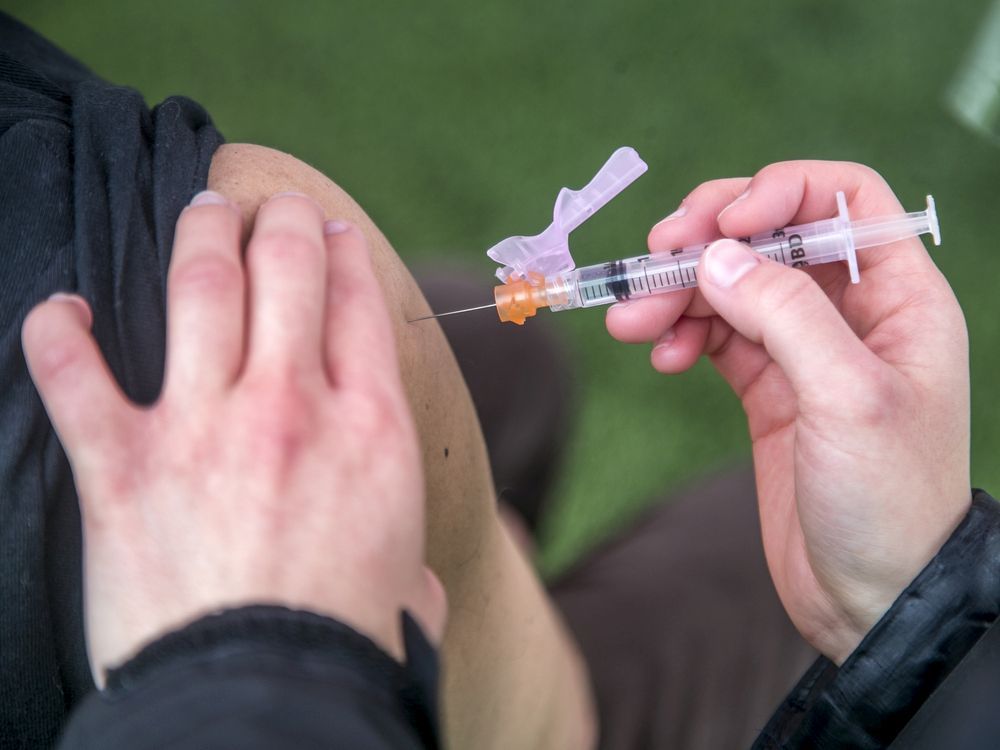
[[(133, 413), (90, 333), (87, 304), (53, 295), (24, 321), (28, 370), (49, 419), (74, 464), (100, 455), (116, 427)], [(89, 453), (88, 453), (89, 451)]]

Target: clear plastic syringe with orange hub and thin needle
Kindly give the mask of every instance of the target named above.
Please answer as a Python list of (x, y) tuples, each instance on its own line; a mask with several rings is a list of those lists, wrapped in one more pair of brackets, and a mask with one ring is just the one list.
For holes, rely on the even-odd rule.
[[(837, 193), (837, 206), (839, 215), (836, 218), (739, 239), (761, 255), (794, 268), (846, 260), (854, 283), (860, 279), (857, 250), (927, 233), (935, 245), (941, 244), (934, 198), (929, 195), (924, 211), (860, 221), (850, 220), (843, 193)], [(542, 307), (559, 312), (690, 289), (698, 285), (698, 261), (710, 244), (613, 260), (549, 277), (528, 274), (528, 278), (508, 279), (494, 289), (497, 313), (503, 322), (523, 325), (525, 319)], [(485, 307), (493, 305), (471, 309)]]

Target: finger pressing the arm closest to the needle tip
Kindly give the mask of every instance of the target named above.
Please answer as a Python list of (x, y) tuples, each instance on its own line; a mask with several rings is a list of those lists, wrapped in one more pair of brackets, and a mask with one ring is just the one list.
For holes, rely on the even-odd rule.
[(347, 388), (398, 383), (392, 321), (365, 238), (343, 221), (328, 221), (325, 231), (325, 355), (330, 382)]

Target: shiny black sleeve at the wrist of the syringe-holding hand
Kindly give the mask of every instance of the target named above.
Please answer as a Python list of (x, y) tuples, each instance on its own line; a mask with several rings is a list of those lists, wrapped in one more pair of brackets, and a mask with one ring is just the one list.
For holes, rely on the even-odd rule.
[[(824, 658), (813, 665), (755, 750), (925, 747), (912, 744), (922, 734), (916, 727), (926, 722), (925, 705), (935, 711), (935, 723), (945, 720), (942, 710), (1000, 706), (1000, 681), (981, 679), (982, 661), (968, 658), (973, 652), (992, 659), (986, 673), (1000, 674), (1000, 648), (990, 645), (1000, 635), (998, 616), (1000, 505), (976, 490), (968, 515), (934, 559), (839, 669)], [(987, 685), (992, 695), (980, 692)], [(942, 709), (947, 694), (951, 708)], [(995, 714), (968, 715), (998, 727)], [(914, 727), (904, 731), (911, 722)], [(979, 729), (985, 731), (985, 724)], [(988, 746), (1000, 746), (992, 736)], [(893, 744), (897, 737), (900, 743)]]

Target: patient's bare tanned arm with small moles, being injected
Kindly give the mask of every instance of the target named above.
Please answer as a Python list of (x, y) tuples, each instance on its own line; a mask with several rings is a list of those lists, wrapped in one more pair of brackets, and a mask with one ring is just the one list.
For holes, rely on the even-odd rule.
[(296, 191), (368, 238), (424, 453), (427, 562), (448, 593), (442, 644), (447, 746), (590, 747), (592, 708), (581, 662), (499, 523), (482, 430), (441, 327), (407, 323), (430, 310), (406, 266), (347, 193), (288, 154), (222, 146), (208, 186), (242, 208), (247, 236), (263, 201)]

